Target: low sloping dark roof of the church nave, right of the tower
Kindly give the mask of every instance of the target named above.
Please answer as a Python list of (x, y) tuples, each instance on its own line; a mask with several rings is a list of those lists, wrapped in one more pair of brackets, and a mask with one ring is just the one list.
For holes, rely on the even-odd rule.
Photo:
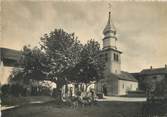
[(128, 72), (124, 72), (124, 71), (121, 71), (121, 73), (118, 74), (118, 75), (110, 73), (109, 77), (116, 78), (116, 79), (119, 79), (119, 80), (126, 80), (126, 81), (137, 82), (137, 79), (132, 74), (130, 74)]

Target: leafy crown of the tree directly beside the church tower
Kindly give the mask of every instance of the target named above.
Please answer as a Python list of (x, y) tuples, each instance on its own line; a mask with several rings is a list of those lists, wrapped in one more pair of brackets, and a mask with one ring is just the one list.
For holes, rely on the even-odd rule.
[[(92, 80), (99, 80), (103, 78), (103, 72), (105, 67), (104, 56), (102, 56), (102, 50), (100, 49), (100, 44), (97, 41), (90, 40), (85, 44), (82, 51), (82, 61), (86, 61), (88, 66), (91, 65)], [(89, 68), (89, 67), (88, 67)]]

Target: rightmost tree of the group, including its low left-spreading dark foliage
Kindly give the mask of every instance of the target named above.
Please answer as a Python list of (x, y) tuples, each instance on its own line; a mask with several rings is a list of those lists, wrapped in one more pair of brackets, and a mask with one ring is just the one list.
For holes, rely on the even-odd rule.
[(89, 84), (103, 78), (104, 59), (101, 54), (100, 44), (90, 40), (84, 45), (80, 62), (69, 69), (66, 77), (69, 81)]

